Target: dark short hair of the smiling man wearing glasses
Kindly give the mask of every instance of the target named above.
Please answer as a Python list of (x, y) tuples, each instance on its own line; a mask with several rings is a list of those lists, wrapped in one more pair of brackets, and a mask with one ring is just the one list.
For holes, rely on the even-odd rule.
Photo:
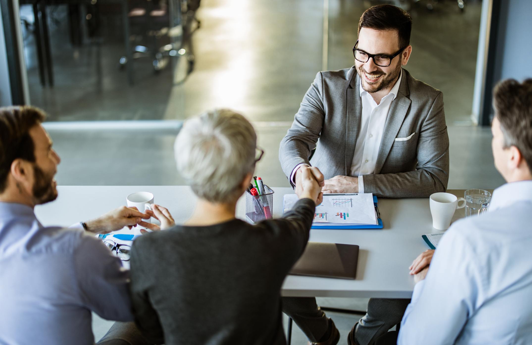
[(359, 21), (360, 29), (397, 30), (399, 34), (399, 48), (410, 45), (410, 32), (412, 31), (412, 17), (397, 6), (376, 5), (362, 13)]

